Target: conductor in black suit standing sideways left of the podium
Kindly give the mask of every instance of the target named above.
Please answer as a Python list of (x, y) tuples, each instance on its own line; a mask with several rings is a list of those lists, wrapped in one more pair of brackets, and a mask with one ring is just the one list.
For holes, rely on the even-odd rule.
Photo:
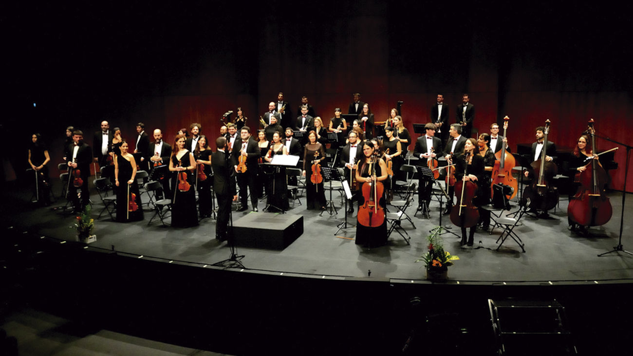
[(215, 224), (215, 238), (220, 241), (227, 239), (231, 201), (237, 200), (235, 179), (230, 167), (229, 141), (226, 137), (215, 140), (216, 151), (211, 153), (211, 168), (213, 169), (213, 191), (218, 200), (218, 219)]

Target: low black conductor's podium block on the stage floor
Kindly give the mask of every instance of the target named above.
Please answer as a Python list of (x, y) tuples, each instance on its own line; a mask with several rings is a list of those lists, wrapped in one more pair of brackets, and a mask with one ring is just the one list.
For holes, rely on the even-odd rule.
[(284, 250), (303, 234), (303, 215), (251, 212), (233, 230), (237, 246)]

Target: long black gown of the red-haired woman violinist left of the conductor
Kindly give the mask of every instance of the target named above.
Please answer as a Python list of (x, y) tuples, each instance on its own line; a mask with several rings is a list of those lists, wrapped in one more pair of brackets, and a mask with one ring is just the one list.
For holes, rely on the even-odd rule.
[[(176, 155), (172, 155), (173, 167), (189, 167), (191, 166), (191, 158), (189, 151), (182, 155), (180, 160)], [(196, 212), (196, 192), (194, 191), (193, 174), (189, 170), (182, 171), (187, 174), (187, 182), (189, 182), (189, 190), (180, 191), (178, 189), (178, 174), (181, 172), (173, 172), (172, 177), (172, 226), (173, 227), (191, 227), (198, 224)]]

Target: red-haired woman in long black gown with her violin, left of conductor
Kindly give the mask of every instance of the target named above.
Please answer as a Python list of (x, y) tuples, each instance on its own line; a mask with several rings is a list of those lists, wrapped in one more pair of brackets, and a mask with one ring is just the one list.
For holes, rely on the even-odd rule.
[(196, 213), (196, 192), (192, 172), (196, 169), (193, 153), (185, 148), (185, 136), (177, 135), (173, 144), (169, 170), (172, 177), (172, 226), (190, 227), (198, 224)]

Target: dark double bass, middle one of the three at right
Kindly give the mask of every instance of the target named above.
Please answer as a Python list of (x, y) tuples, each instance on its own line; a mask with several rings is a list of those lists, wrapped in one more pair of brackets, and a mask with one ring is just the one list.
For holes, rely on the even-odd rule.
[(523, 191), (523, 203), (530, 201), (530, 209), (538, 209), (542, 212), (556, 207), (558, 204), (558, 189), (551, 184), (551, 180), (558, 172), (556, 163), (546, 160), (548, 148), (549, 119), (545, 121), (543, 148), (541, 149), (541, 159), (531, 163), (534, 172), (539, 172), (539, 177), (534, 179), (530, 186)]

